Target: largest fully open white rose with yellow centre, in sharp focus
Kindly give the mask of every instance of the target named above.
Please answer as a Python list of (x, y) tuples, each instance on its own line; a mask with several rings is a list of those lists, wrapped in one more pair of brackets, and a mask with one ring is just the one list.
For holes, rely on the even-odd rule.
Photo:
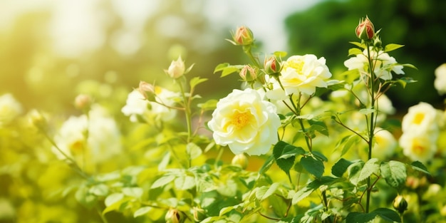
[(218, 145), (228, 145), (235, 155), (262, 155), (278, 140), (281, 122), (276, 106), (251, 88), (233, 90), (217, 103), (208, 126)]

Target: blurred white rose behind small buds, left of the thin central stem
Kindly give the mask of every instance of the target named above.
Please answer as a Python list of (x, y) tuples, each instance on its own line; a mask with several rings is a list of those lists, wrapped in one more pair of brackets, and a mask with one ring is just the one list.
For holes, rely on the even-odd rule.
[(142, 95), (140, 90), (133, 90), (129, 93), (126, 104), (121, 111), (124, 115), (130, 116), (130, 121), (133, 123), (138, 122), (138, 120), (162, 120), (166, 122), (175, 118), (177, 110), (167, 108), (165, 105), (175, 105), (175, 98), (179, 97), (178, 93), (159, 86), (155, 86), (154, 93), (156, 102), (145, 99), (145, 95)]

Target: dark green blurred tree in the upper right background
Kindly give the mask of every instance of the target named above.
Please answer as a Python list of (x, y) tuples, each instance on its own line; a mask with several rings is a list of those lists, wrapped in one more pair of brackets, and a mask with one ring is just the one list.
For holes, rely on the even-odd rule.
[(400, 87), (389, 90), (394, 106), (406, 109), (421, 100), (441, 106), (433, 81), (435, 68), (446, 62), (444, 9), (442, 0), (323, 1), (286, 19), (290, 53), (324, 56), (333, 73), (345, 71), (343, 61), (353, 47), (348, 41), (358, 41), (355, 28), (368, 15), (375, 30), (382, 29), (383, 44), (405, 45), (390, 56), (418, 68), (404, 69), (406, 76), (418, 81), (407, 85), (404, 93)]

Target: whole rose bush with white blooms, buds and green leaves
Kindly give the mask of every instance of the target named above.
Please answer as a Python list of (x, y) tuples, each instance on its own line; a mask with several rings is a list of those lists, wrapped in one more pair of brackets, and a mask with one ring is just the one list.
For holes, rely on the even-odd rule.
[(446, 113), (419, 103), (390, 116), (398, 108), (385, 93), (413, 83), (403, 76), (413, 66), (378, 32), (361, 19), (346, 71), (332, 74), (313, 54), (261, 58), (241, 26), (229, 42), (250, 62), (216, 66), (243, 82), (219, 99), (197, 95), (207, 78), (181, 56), (165, 70), (172, 84), (141, 81), (120, 110), (81, 94), (80, 114), (61, 118), (2, 95), (0, 143), (11, 149), (0, 150), (0, 173), (11, 195), (0, 197), (0, 220), (440, 222)]

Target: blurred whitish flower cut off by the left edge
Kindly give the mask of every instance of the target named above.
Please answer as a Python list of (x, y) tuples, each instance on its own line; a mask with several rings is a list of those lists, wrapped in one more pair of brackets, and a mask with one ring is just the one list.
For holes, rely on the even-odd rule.
[(0, 96), (0, 127), (11, 123), (22, 112), (21, 104), (11, 93)]

